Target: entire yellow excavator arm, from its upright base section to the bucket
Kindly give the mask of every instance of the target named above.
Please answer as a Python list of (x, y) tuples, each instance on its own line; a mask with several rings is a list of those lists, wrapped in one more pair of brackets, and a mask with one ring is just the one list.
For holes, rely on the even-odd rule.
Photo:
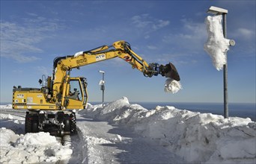
[[(86, 66), (103, 60), (109, 60), (114, 57), (120, 57), (127, 63), (132, 65), (132, 69), (138, 69), (146, 77), (157, 75), (180, 81), (177, 69), (172, 63), (159, 65), (158, 63), (148, 64), (138, 54), (132, 51), (128, 42), (118, 41), (112, 45), (103, 45), (89, 51), (79, 51), (74, 55), (67, 57), (56, 57), (53, 64), (53, 73), (50, 84), (52, 90), (52, 98), (57, 98), (62, 86), (67, 83), (71, 69), (79, 69), (80, 66)], [(63, 96), (65, 94), (63, 93)], [(61, 103), (63, 104), (63, 102)]]

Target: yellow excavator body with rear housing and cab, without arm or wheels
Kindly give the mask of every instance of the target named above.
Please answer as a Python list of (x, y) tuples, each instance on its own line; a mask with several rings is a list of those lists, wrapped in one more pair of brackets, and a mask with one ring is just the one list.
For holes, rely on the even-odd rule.
[[(13, 109), (16, 110), (66, 110), (84, 109), (88, 100), (87, 83), (85, 78), (69, 78), (62, 85), (61, 97), (64, 100), (64, 107), (58, 103), (49, 101), (49, 90), (42, 88), (18, 88), (13, 89)], [(75, 91), (76, 90), (76, 91)]]

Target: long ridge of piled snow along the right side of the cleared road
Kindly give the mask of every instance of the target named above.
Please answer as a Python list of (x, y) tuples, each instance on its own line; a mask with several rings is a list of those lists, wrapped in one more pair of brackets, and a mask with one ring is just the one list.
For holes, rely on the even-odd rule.
[(255, 163), (256, 123), (251, 119), (169, 106), (147, 110), (125, 97), (105, 107), (88, 104), (79, 113), (126, 125), (189, 163)]

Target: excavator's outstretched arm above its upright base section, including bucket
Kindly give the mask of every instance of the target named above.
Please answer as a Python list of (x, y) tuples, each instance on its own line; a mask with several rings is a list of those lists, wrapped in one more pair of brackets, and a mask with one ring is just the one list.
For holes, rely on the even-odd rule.
[(138, 69), (147, 77), (160, 74), (166, 78), (180, 81), (177, 69), (172, 63), (168, 63), (165, 66), (159, 65), (158, 63), (148, 64), (142, 57), (132, 51), (129, 43), (125, 41), (114, 42), (112, 45), (103, 45), (90, 51), (79, 51), (72, 56), (57, 57), (54, 61), (54, 70), (58, 66), (59, 60), (63, 62), (61, 67), (64, 70), (70, 70), (102, 60), (109, 60), (114, 57), (120, 57), (127, 61), (127, 63), (132, 65), (132, 69)]

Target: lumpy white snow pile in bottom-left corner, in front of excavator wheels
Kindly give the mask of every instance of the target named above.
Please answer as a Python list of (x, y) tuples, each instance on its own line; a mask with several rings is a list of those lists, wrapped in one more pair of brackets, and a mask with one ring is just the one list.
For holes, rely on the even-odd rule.
[(42, 163), (67, 160), (72, 150), (61, 145), (49, 133), (26, 133), (18, 135), (1, 127), (0, 163)]

